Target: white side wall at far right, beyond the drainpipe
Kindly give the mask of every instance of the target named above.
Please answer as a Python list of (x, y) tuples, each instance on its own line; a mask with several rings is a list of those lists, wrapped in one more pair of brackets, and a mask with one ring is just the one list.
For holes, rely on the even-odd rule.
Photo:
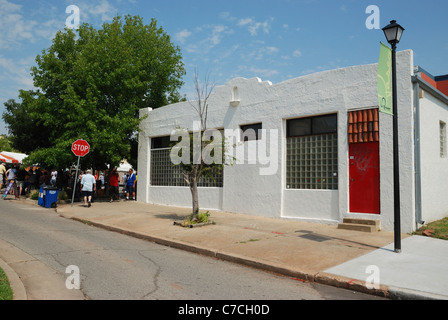
[(439, 123), (448, 124), (448, 105), (424, 91), (420, 99), (422, 219), (448, 216), (448, 158), (440, 157)]

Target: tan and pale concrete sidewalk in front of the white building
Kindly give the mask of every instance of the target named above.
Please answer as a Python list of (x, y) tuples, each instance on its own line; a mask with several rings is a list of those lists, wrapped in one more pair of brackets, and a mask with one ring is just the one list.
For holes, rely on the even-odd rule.
[[(391, 299), (448, 300), (448, 241), (393, 232), (365, 233), (337, 226), (211, 212), (213, 225), (175, 226), (191, 209), (135, 201), (75, 203), (56, 211), (96, 227), (279, 273)], [(373, 266), (373, 267), (371, 267)], [(368, 269), (373, 268), (373, 269)], [(377, 270), (376, 274), (372, 270)], [(378, 273), (379, 272), (379, 273)], [(380, 286), (369, 289), (379, 276)]]

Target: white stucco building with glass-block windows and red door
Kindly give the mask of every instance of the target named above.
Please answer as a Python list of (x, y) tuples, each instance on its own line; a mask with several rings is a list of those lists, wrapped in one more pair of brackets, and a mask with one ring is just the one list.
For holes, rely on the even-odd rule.
[[(448, 215), (448, 93), (434, 85), (446, 80), (416, 68), (411, 50), (397, 53), (403, 232)], [(191, 207), (166, 147), (176, 128), (193, 128), (197, 113), (181, 102), (141, 116), (137, 200)], [(201, 209), (330, 224), (367, 218), (393, 230), (392, 117), (378, 112), (377, 64), (279, 84), (231, 80), (210, 96), (207, 127), (263, 131), (237, 139), (244, 163), (203, 182)]]

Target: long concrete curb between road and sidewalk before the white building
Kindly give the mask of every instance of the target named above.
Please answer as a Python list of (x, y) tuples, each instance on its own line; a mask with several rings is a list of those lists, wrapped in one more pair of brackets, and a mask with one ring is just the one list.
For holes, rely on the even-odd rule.
[[(252, 267), (255, 269), (272, 272), (275, 274), (279, 274), (282, 276), (287, 276), (294, 278), (296, 280), (304, 281), (304, 282), (315, 282), (323, 285), (329, 285), (334, 286), (337, 288), (343, 288), (348, 289), (352, 291), (357, 291), (365, 294), (371, 294), (376, 295), (379, 297), (384, 297), (388, 299), (394, 299), (394, 300), (414, 300), (414, 299), (422, 299), (422, 297), (425, 297), (425, 299), (433, 300), (435, 297), (431, 297), (429, 295), (425, 295), (424, 293), (416, 294), (416, 293), (402, 293), (401, 289), (394, 288), (393, 290), (390, 290), (387, 286), (381, 285), (379, 288), (373, 288), (369, 289), (366, 286), (366, 283), (364, 281), (356, 280), (356, 279), (350, 279), (342, 276), (337, 276), (325, 272), (318, 272), (318, 273), (312, 273), (312, 272), (306, 272), (302, 270), (293, 270), (284, 266), (275, 265), (272, 263), (264, 263), (259, 260), (249, 259), (247, 257), (238, 256), (235, 254), (228, 254), (225, 252), (219, 252), (208, 248), (202, 248), (197, 245), (190, 245), (182, 242), (178, 242), (171, 239), (166, 239), (162, 237), (155, 237), (150, 236), (142, 233), (137, 233), (135, 231), (126, 230), (123, 228), (113, 227), (97, 222), (88, 221), (85, 219), (80, 219), (77, 217), (65, 217), (62, 213), (59, 213), (62, 217), (72, 219), (78, 222), (87, 223), (91, 226), (102, 228), (105, 230), (121, 233), (124, 235), (128, 235), (131, 237), (147, 240), (156, 244), (189, 251), (192, 253), (201, 254), (204, 256), (213, 257), (216, 259), (229, 261), (241, 265), (245, 265), (248, 267)], [(439, 299), (441, 297), (438, 297)], [(442, 298), (443, 299), (443, 298)]]

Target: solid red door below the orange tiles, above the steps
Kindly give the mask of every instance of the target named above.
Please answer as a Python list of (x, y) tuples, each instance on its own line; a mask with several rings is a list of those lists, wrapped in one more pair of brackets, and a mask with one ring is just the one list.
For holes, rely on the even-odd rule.
[(349, 144), (350, 212), (380, 213), (379, 142)]

